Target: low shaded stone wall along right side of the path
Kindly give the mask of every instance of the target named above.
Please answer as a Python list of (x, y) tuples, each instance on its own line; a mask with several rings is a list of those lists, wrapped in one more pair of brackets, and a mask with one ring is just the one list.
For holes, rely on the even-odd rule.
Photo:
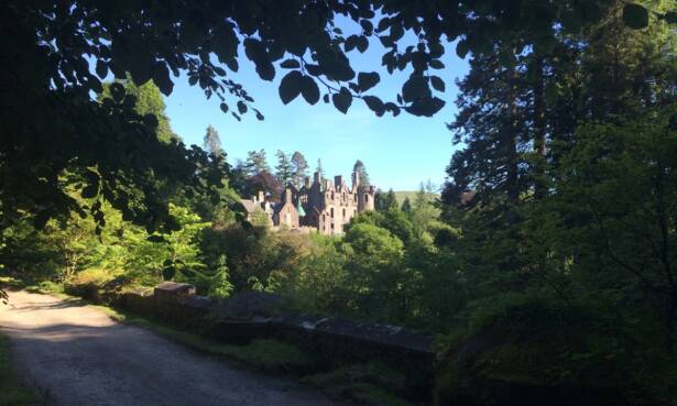
[(357, 322), (281, 310), (277, 296), (245, 293), (217, 303), (188, 284), (165, 282), (154, 292), (128, 292), (114, 306), (189, 328), (214, 339), (245, 343), (275, 338), (317, 354), (328, 366), (380, 361), (407, 373), (424, 393), (433, 385), (433, 338), (401, 327)]

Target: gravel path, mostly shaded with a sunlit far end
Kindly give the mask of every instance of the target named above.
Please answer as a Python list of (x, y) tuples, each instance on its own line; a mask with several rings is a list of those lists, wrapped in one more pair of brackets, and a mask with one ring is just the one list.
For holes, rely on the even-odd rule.
[[(61, 406), (338, 406), (292, 381), (238, 370), (74, 299), (10, 292), (0, 329), (19, 371)], [(2, 396), (2, 394), (0, 394)]]

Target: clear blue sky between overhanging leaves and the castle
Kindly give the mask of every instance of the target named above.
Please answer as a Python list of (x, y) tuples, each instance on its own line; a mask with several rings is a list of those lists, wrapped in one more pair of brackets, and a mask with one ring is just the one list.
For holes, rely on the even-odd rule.
[[(342, 28), (346, 33), (350, 32)], [(415, 39), (408, 40), (415, 45)], [(245, 61), (243, 52), (240, 55), (240, 70), (233, 78), (255, 99), (254, 106), (265, 120), (259, 121), (253, 113), (248, 113), (238, 122), (221, 112), (217, 98), (207, 100), (199, 87), (190, 87), (185, 77), (177, 78), (165, 102), (173, 130), (187, 144), (201, 145), (205, 129), (211, 124), (219, 132), (231, 163), (244, 158), (248, 151), (264, 149), (269, 164), (274, 167), (277, 150), (299, 151), (313, 171), (321, 158), (328, 176), (349, 176), (354, 161), (362, 160), (372, 184), (382, 189), (413, 190), (428, 179), (437, 185), (443, 183), (445, 167), (455, 149), (446, 128), (456, 113), (454, 81), (468, 69), (467, 62), (456, 56), (452, 44), (448, 44), (441, 59), (445, 69), (436, 72), (447, 84), (446, 92), (438, 95), (447, 105), (433, 118), (404, 112), (396, 118), (389, 113), (379, 118), (361, 100), (353, 100), (347, 114), (330, 103), (325, 105), (321, 99), (309, 106), (301, 96), (284, 106), (277, 95), (277, 85), (286, 70), (277, 69), (272, 83), (263, 81), (253, 65)], [(354, 61), (356, 72), (376, 70), (381, 75), (381, 83), (370, 90), (371, 94), (394, 100), (408, 73), (389, 76), (381, 67), (381, 55), (380, 43), (372, 42), (367, 53), (359, 54), (356, 50), (349, 57)]]

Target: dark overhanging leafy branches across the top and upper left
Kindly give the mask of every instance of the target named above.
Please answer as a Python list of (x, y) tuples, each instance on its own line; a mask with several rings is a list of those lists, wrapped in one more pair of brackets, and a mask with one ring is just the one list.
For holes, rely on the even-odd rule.
[[(460, 57), (492, 53), (496, 39), (511, 37), (515, 50), (546, 41), (555, 30), (576, 32), (599, 21), (613, 1), (23, 1), (0, 6), (3, 84), (0, 109), (0, 201), (2, 221), (29, 210), (35, 224), (75, 210), (105, 223), (99, 205), (83, 207), (64, 190), (74, 184), (83, 197), (112, 202), (149, 230), (172, 226), (157, 180), (212, 193), (227, 167), (201, 150), (154, 136), (157, 118), (133, 111), (134, 97), (121, 86), (97, 102), (101, 80), (131, 75), (141, 86), (152, 80), (164, 95), (184, 73), (221, 110), (240, 119), (256, 109), (253, 98), (230, 76), (243, 57), (262, 80), (284, 75), (280, 97), (299, 95), (316, 103), (320, 95), (341, 112), (361, 99), (376, 116), (401, 110), (432, 116), (444, 105), (445, 42), (459, 40)], [(345, 17), (360, 33), (343, 35), (335, 25)], [(629, 4), (623, 21), (642, 29), (654, 20), (674, 23), (673, 12), (648, 12)], [(405, 32), (417, 44), (403, 40)], [(373, 70), (356, 72), (349, 55), (363, 53), (378, 37), (389, 73), (408, 68), (398, 95), (381, 100), (370, 94), (380, 81)], [(538, 39), (537, 41), (534, 39)], [(372, 44), (378, 44), (375, 41)], [(240, 45), (244, 56), (239, 54)], [(282, 73), (279, 70), (282, 69)], [(320, 91), (321, 88), (321, 91)], [(66, 174), (73, 178), (65, 179)]]

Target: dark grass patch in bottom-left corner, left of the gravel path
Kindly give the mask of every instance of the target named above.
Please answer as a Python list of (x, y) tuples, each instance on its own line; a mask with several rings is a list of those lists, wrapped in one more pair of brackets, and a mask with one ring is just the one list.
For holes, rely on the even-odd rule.
[(10, 348), (10, 339), (0, 334), (0, 406), (46, 405), (46, 396), (25, 385), (17, 374)]

